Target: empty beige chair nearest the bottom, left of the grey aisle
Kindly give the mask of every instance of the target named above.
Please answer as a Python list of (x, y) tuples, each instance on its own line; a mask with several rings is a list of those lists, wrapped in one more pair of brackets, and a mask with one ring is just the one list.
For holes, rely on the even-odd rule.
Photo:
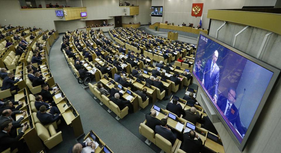
[(35, 127), (38, 137), (40, 137), (48, 149), (51, 149), (62, 142), (61, 131), (56, 132), (53, 125), (49, 125), (46, 128), (42, 124), (36, 123)]

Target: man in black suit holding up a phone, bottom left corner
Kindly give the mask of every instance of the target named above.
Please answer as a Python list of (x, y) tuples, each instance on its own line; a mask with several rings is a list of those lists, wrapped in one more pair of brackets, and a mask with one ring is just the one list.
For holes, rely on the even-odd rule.
[(18, 148), (19, 153), (25, 152), (23, 144), (19, 142), (19, 139), (23, 136), (24, 131), (27, 129), (28, 125), (25, 125), (23, 129), (18, 132), (16, 137), (12, 137), (11, 128), (13, 127), (10, 120), (3, 122), (0, 125), (0, 152), (11, 148), (11, 151)]

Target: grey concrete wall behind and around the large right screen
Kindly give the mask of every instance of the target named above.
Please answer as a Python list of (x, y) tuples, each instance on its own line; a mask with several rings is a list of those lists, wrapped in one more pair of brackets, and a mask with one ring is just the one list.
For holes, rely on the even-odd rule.
[[(209, 35), (215, 37), (216, 30), (222, 25), (222, 21), (212, 20)], [(232, 46), (234, 35), (244, 26), (227, 23), (218, 33), (217, 39)], [(266, 33), (259, 28), (250, 27), (242, 32), (235, 43), (235, 48), (257, 57), (261, 47), (261, 42)], [(262, 49), (260, 60), (263, 60), (277, 68), (281, 68), (280, 60), (281, 36), (275, 33), (268, 36), (265, 46)], [(254, 76), (253, 76), (254, 77)], [(200, 94), (200, 93), (199, 93)], [(265, 103), (261, 114), (253, 127), (248, 144), (243, 153), (280, 152), (281, 146), (281, 86), (280, 80), (277, 81), (276, 87), (272, 90), (268, 101)], [(221, 122), (215, 123), (225, 148), (226, 153), (240, 152), (232, 138), (226, 131)]]

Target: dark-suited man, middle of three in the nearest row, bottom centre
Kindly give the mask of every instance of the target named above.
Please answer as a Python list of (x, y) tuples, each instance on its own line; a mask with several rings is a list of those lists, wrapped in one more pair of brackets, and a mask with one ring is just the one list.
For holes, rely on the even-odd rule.
[(174, 145), (177, 137), (174, 135), (174, 133), (171, 131), (169, 127), (167, 127), (167, 119), (162, 118), (161, 119), (161, 125), (155, 126), (155, 133), (161, 135), (165, 139), (167, 139), (169, 142), (172, 143), (172, 146)]

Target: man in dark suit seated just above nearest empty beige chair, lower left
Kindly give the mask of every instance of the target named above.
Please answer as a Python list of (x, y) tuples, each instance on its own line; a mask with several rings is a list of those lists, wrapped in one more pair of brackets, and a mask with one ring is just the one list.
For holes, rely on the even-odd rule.
[(40, 106), (39, 111), (36, 113), (38, 120), (40, 120), (40, 122), (43, 125), (47, 125), (49, 123), (56, 122), (59, 120), (59, 117), (61, 117), (61, 113), (52, 115), (52, 114), (46, 112), (46, 110), (47, 110), (46, 106), (42, 105), (42, 106)]

